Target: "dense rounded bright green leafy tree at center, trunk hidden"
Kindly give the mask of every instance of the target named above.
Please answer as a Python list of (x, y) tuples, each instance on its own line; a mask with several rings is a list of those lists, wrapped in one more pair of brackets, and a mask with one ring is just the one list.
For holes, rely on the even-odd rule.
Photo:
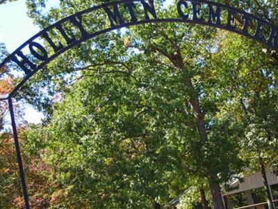
[[(173, 107), (167, 100), (158, 100), (154, 95), (152, 102), (147, 102), (158, 85), (156, 91), (163, 95), (166, 76), (159, 77), (163, 71), (157, 68), (152, 72), (157, 74), (156, 80), (149, 82), (149, 73), (142, 74), (140, 68), (134, 70), (134, 75), (111, 70), (89, 72), (90, 76), (80, 79), (57, 104), (53, 122), (43, 130), (49, 133), (42, 138), (47, 143), (47, 162), (57, 167), (65, 187), (76, 176), (70, 184), (72, 191), (67, 192), (70, 196), (65, 197), (72, 199), (66, 202), (70, 206), (93, 203), (99, 207), (151, 208), (158, 202), (167, 203), (184, 189), (182, 182), (186, 182), (186, 173), (179, 168), (184, 142), (179, 136), (175, 141), (170, 139), (186, 130), (181, 130), (182, 124), (171, 129), (181, 120), (181, 114), (173, 115), (175, 120), (168, 123)], [(138, 91), (144, 84), (150, 89)], [(167, 97), (174, 100), (174, 95)], [(31, 136), (31, 141), (38, 139), (33, 132)], [(62, 156), (70, 160), (64, 161)]]

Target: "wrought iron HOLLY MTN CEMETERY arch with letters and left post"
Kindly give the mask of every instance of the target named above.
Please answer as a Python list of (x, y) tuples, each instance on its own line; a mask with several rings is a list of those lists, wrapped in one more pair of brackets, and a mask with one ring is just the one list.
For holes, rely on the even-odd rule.
[[(129, 20), (124, 20), (122, 14), (120, 13), (119, 6), (122, 6), (129, 15)], [(138, 20), (134, 8), (140, 6), (142, 8), (142, 13), (145, 15), (142, 20)], [(110, 27), (103, 28), (99, 31), (93, 31), (92, 33), (87, 31), (87, 28), (83, 25), (82, 17), (88, 15), (97, 10), (102, 10), (106, 13), (107, 18), (106, 22), (110, 23)], [(224, 15), (224, 13), (226, 15)], [(156, 8), (154, 6), (154, 1), (146, 0), (120, 0), (113, 1), (111, 3), (104, 3), (100, 6), (95, 6), (82, 10), (74, 15), (65, 17), (63, 20), (48, 26), (46, 29), (35, 34), (32, 38), (24, 42), (20, 47), (18, 47), (15, 52), (10, 54), (4, 61), (0, 64), (0, 69), (5, 68), (8, 63), (16, 63), (19, 68), (24, 72), (22, 80), (13, 88), (13, 90), (8, 94), (6, 98), (0, 98), (0, 100), (8, 100), (8, 105), (10, 109), (11, 122), (13, 126), (13, 135), (15, 138), (15, 148), (17, 153), (17, 162), (19, 164), (19, 174), (22, 180), (22, 189), (24, 194), (24, 201), (26, 208), (30, 208), (28, 201), (28, 192), (26, 188), (25, 178), (24, 178), (24, 169), (22, 165), (22, 157), (20, 155), (19, 141), (17, 137), (17, 126), (15, 123), (15, 116), (13, 111), (13, 97), (17, 91), (25, 84), (28, 79), (30, 79), (38, 70), (42, 69), (47, 63), (55, 59), (63, 52), (71, 49), (75, 45), (78, 45), (81, 42), (85, 42), (90, 38), (94, 38), (103, 33), (113, 31), (115, 29), (121, 29), (128, 26), (135, 26), (138, 24), (148, 24), (148, 23), (159, 23), (159, 22), (181, 22), (188, 24), (200, 24), (204, 26), (213, 26), (218, 29), (224, 29), (231, 31), (233, 33), (238, 33), (241, 36), (245, 36), (252, 40), (256, 40), (261, 44), (265, 45), (269, 49), (278, 52), (278, 27), (274, 24), (262, 20), (259, 17), (256, 17), (250, 13), (247, 13), (243, 10), (238, 10), (236, 8), (231, 8), (220, 3), (215, 3), (212, 1), (202, 1), (202, 0), (179, 0), (177, 3), (177, 14), (176, 17), (169, 18), (159, 18), (156, 14)], [(225, 16), (225, 19), (224, 19)], [(238, 29), (236, 26), (236, 21), (241, 21), (243, 23), (242, 28)], [(250, 34), (250, 25), (251, 22), (255, 22), (256, 27), (253, 29), (254, 33)], [(69, 35), (63, 29), (63, 24), (70, 23), (74, 29), (77, 29), (81, 34), (80, 38), (76, 38), (76, 34), (72, 33)], [(105, 25), (105, 24), (104, 24)], [(58, 31), (65, 42), (66, 45), (63, 45), (57, 40), (52, 40), (49, 37), (49, 32)], [(263, 33), (264, 31), (264, 33)], [(267, 37), (265, 36), (265, 31), (267, 31)], [(44, 42), (47, 42), (49, 47), (53, 49), (54, 54), (50, 54), (47, 49), (42, 46), (38, 38), (44, 39)], [(33, 63), (24, 53), (22, 49), (28, 47), (31, 56), (33, 56), (36, 61), (36, 64)]]

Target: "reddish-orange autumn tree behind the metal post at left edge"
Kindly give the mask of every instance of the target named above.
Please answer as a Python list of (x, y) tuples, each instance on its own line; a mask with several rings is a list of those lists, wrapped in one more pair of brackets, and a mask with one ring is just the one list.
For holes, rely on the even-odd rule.
[[(0, 43), (0, 62), (8, 56), (5, 45)], [(6, 98), (11, 89), (14, 88), (15, 75), (12, 72), (14, 65), (7, 65), (1, 69), (0, 79), (0, 97)], [(6, 75), (4, 75), (4, 73)], [(17, 129), (19, 143), (22, 151), (22, 159), (26, 174), (26, 183), (30, 194), (30, 203), (32, 208), (45, 208), (50, 199), (48, 195), (48, 175), (51, 173), (49, 167), (45, 167), (44, 162), (37, 155), (31, 155), (24, 147), (22, 141), (22, 132), (25, 128), (23, 119), (24, 108), (15, 100), (14, 110), (17, 118)], [(10, 130), (10, 121), (8, 119), (8, 102), (0, 102), (0, 208), (24, 208), (24, 199), (22, 197), (22, 187), (17, 164), (17, 153), (15, 152), (15, 142)], [(30, 144), (28, 146), (31, 146)], [(51, 187), (55, 187), (52, 183)]]

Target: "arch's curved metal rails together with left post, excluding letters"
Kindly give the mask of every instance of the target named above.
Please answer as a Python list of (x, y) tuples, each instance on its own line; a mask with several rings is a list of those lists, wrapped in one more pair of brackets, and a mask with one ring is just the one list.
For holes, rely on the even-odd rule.
[[(9, 63), (13, 59), (13, 57), (16, 56), (16, 54), (18, 52), (21, 52), (21, 50), (24, 47), (26, 47), (31, 42), (33, 42), (33, 40), (35, 40), (36, 38), (39, 38), (40, 36), (47, 33), (47, 31), (50, 31), (51, 29), (54, 29), (56, 26), (59, 26), (63, 22), (70, 21), (72, 19), (75, 19), (76, 17), (81, 17), (81, 15), (84, 15), (86, 13), (90, 13), (90, 12), (95, 11), (95, 10), (99, 10), (101, 8), (102, 9), (107, 8), (108, 6), (117, 6), (118, 4), (133, 3), (133, 2), (141, 2), (142, 3), (142, 1), (145, 1), (145, 0), (120, 0), (120, 1), (114, 1), (114, 2), (111, 2), (111, 3), (104, 3), (101, 6), (95, 6), (95, 7), (92, 7), (92, 8), (88, 8), (86, 10), (75, 13), (74, 15), (70, 15), (68, 17), (65, 17), (63, 20), (60, 20), (60, 21), (56, 22), (55, 24), (52, 24), (51, 26), (48, 26), (46, 29), (40, 31), (39, 33), (35, 34), (35, 36), (33, 36), (32, 38), (30, 38), (29, 40), (24, 42), (24, 44), (22, 44), (20, 47), (18, 47), (15, 50), (15, 52), (13, 52), (6, 59), (4, 59), (4, 61), (0, 64), (0, 69), (3, 68), (6, 65), (6, 63)], [(71, 42), (70, 44), (68, 44), (67, 46), (63, 47), (62, 49), (59, 49), (56, 53), (51, 55), (49, 58), (47, 57), (46, 60), (44, 60), (40, 65), (38, 65), (34, 69), (32, 69), (31, 72), (28, 73), (24, 77), (24, 79), (22, 79), (22, 81), (19, 82), (19, 84), (17, 84), (17, 86), (15, 86), (15, 88), (13, 89), (13, 91), (10, 92), (10, 94), (8, 95), (7, 98), (0, 98), (0, 101), (1, 100), (8, 100), (8, 104), (9, 104), (11, 123), (12, 123), (12, 126), (13, 126), (13, 135), (14, 135), (14, 138), (15, 138), (15, 149), (16, 149), (16, 153), (17, 153), (17, 162), (18, 162), (18, 165), (19, 165), (19, 174), (20, 174), (20, 178), (21, 178), (21, 181), (22, 181), (22, 190), (23, 190), (23, 194), (24, 194), (24, 201), (25, 201), (26, 208), (30, 208), (30, 205), (29, 205), (29, 201), (28, 201), (28, 192), (27, 192), (27, 187), (26, 187), (26, 182), (25, 182), (25, 175), (24, 175), (24, 169), (23, 169), (23, 164), (22, 164), (22, 157), (21, 157), (21, 154), (20, 154), (19, 140), (18, 140), (18, 136), (17, 136), (17, 126), (16, 126), (16, 123), (15, 123), (15, 114), (14, 114), (14, 109), (13, 109), (13, 97), (14, 97), (15, 93), (17, 93), (17, 91), (19, 91), (19, 89), (22, 87), (22, 85), (25, 84), (28, 81), (28, 79), (30, 79), (36, 72), (38, 72), (38, 70), (43, 68), (44, 65), (47, 65), (47, 63), (49, 63), (50, 61), (55, 59), (57, 56), (59, 56), (63, 52), (65, 52), (68, 49), (74, 47), (75, 45), (78, 45), (81, 42), (84, 42), (85, 40), (88, 40), (90, 38), (94, 38), (95, 36), (99, 36), (103, 33), (108, 33), (108, 32), (113, 31), (115, 29), (121, 29), (121, 28), (127, 27), (127, 26), (135, 26), (135, 25), (138, 25), (138, 24), (159, 23), (159, 22), (181, 22), (181, 23), (189, 23), (189, 24), (201, 24), (201, 25), (204, 25), (204, 26), (213, 26), (213, 27), (216, 27), (216, 28), (219, 28), (219, 29), (224, 29), (224, 30), (227, 30), (227, 31), (231, 31), (233, 33), (238, 33), (241, 36), (245, 36), (245, 37), (250, 38), (252, 40), (256, 40), (257, 42), (261, 42), (266, 47), (269, 47), (270, 49), (273, 49), (276, 52), (278, 52), (278, 43), (276, 43), (276, 41), (278, 42), (278, 28), (274, 24), (271, 24), (270, 22), (262, 20), (261, 18), (256, 17), (256, 16), (254, 16), (250, 13), (247, 13), (243, 10), (238, 10), (236, 8), (231, 8), (230, 6), (222, 5), (220, 3), (214, 3), (214, 2), (211, 2), (211, 1), (202, 1), (202, 0), (180, 0), (180, 1), (182, 1), (182, 2), (188, 2), (189, 1), (189, 2), (192, 2), (192, 3), (194, 2), (194, 3), (199, 3), (199, 4), (207, 4), (207, 5), (211, 5), (211, 6), (216, 6), (217, 8), (224, 8), (228, 11), (233, 12), (233, 13), (250, 17), (252, 20), (256, 20), (258, 25), (263, 24), (265, 26), (270, 27), (270, 29), (274, 29), (276, 31), (275, 38), (277, 36), (277, 40), (275, 39), (273, 45), (270, 45), (270, 43), (266, 42), (266, 40), (263, 40), (263, 39), (261, 39), (259, 37), (256, 37), (256, 36), (252, 36), (251, 34), (246, 33), (246, 31), (245, 32), (238, 31), (231, 26), (225, 26), (225, 25), (222, 25), (222, 24), (215, 24), (215, 23), (212, 23), (212, 22), (188, 20), (188, 19), (184, 19), (184, 18), (167, 18), (167, 19), (155, 18), (155, 19), (146, 19), (146, 20), (140, 20), (140, 21), (136, 20), (136, 22), (124, 22), (122, 24), (113, 25), (108, 29), (103, 29), (101, 31), (97, 31), (97, 32), (92, 33), (92, 34), (88, 34), (88, 36), (77, 39), (77, 40)], [(114, 12), (115, 12), (115, 10), (114, 10)], [(115, 13), (114, 13), (114, 15), (115, 15)], [(276, 44), (277, 44), (277, 46), (276, 46)]]

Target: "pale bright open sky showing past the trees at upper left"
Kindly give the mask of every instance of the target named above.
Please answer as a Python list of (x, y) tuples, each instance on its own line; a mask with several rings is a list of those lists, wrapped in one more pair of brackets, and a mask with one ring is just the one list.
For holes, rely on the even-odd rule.
[[(166, 0), (167, 6), (172, 0)], [(58, 5), (58, 0), (47, 1), (47, 8)], [(13, 52), (40, 29), (27, 16), (26, 0), (17, 0), (0, 5), (0, 42), (5, 43), (8, 52)], [(40, 123), (43, 114), (31, 105), (25, 105), (24, 119), (29, 123)]]

